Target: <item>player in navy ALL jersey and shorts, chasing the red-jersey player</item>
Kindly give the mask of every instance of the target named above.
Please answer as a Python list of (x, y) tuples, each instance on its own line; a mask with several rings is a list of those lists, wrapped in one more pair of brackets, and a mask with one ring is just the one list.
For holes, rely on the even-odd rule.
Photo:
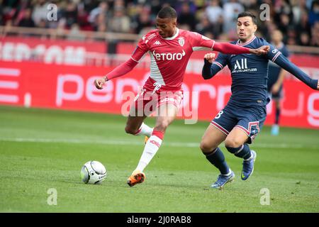
[[(213, 188), (221, 189), (232, 181), (235, 174), (227, 162), (218, 145), (225, 141), (225, 147), (235, 156), (243, 159), (241, 179), (246, 180), (254, 170), (256, 152), (250, 150), (248, 144), (260, 132), (266, 118), (266, 105), (270, 99), (267, 94), (268, 62), (271, 60), (284, 70), (290, 72), (313, 89), (319, 89), (317, 79), (310, 79), (306, 73), (293, 65), (273, 45), (263, 38), (257, 38), (257, 19), (250, 12), (243, 12), (237, 16), (237, 35), (239, 40), (231, 42), (248, 48), (258, 48), (269, 45), (267, 55), (228, 55), (208, 53), (204, 57), (202, 76), (210, 79), (226, 65), (231, 72), (232, 95), (225, 108), (216, 115), (206, 129), (201, 140), (201, 151), (206, 159), (218, 168), (220, 175)], [(215, 60), (215, 61), (214, 61)]]

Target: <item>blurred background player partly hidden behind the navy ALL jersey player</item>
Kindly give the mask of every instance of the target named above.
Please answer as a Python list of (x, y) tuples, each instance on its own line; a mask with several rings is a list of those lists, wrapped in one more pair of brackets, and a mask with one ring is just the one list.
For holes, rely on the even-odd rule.
[[(286, 48), (286, 45), (282, 42), (282, 39), (283, 35), (281, 31), (276, 30), (272, 33), (272, 45), (274, 45), (274, 47), (277, 48), (282, 55), (289, 57), (289, 51)], [(279, 65), (276, 65), (272, 61), (269, 62), (267, 91), (272, 97), (276, 108), (274, 124), (272, 125), (272, 135), (279, 135), (279, 120), (281, 113), (280, 101), (284, 95), (282, 84), (284, 82), (285, 74), (286, 70), (281, 69)]]

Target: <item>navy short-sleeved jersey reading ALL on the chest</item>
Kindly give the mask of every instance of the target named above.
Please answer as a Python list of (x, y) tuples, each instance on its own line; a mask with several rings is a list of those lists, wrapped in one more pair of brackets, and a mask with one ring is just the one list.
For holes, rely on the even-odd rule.
[(281, 55), (281, 52), (263, 38), (254, 37), (247, 43), (242, 44), (239, 44), (239, 40), (231, 43), (252, 49), (257, 49), (262, 45), (270, 46), (268, 54), (261, 56), (252, 54), (225, 55), (219, 53), (212, 65), (212, 68), (218, 65), (220, 69), (228, 65), (230, 69), (233, 80), (230, 103), (239, 104), (240, 106), (267, 105), (270, 100), (267, 94), (268, 61), (274, 62)]

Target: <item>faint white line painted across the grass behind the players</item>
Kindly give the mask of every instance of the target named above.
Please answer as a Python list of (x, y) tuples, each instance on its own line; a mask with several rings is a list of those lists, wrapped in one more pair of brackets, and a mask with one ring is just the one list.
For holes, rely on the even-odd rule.
[[(29, 142), (29, 143), (78, 143), (78, 144), (106, 144), (106, 145), (144, 145), (142, 141), (131, 141), (131, 140), (79, 140), (79, 139), (50, 139), (50, 138), (0, 138), (0, 142)], [(198, 143), (181, 143), (181, 142), (167, 142), (163, 145), (169, 147), (186, 147), (186, 148), (199, 148)], [(254, 143), (252, 148), (310, 148), (315, 149), (319, 146), (303, 146), (298, 144), (267, 144), (267, 143)]]

